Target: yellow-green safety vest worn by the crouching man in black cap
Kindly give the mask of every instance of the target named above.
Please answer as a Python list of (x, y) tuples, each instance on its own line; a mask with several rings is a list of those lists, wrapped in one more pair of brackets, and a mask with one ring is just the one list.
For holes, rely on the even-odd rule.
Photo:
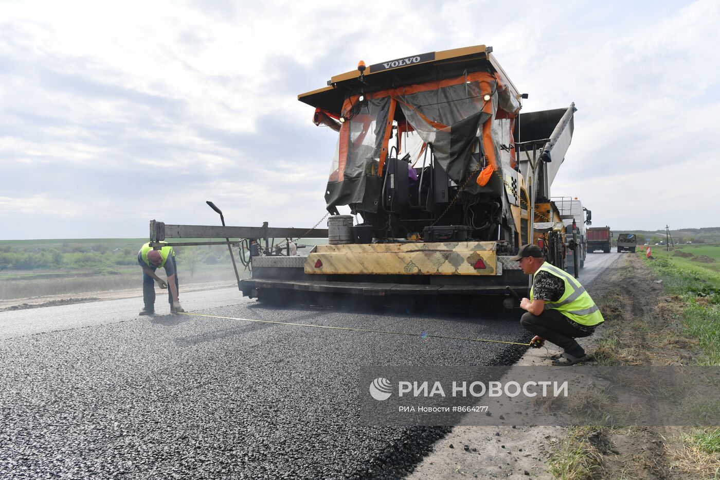
[[(580, 285), (580, 282), (575, 277), (548, 262), (541, 265), (535, 275), (538, 272), (548, 272), (550, 275), (561, 278), (565, 283), (565, 291), (562, 297), (557, 302), (546, 301), (545, 308), (560, 311), (564, 316), (577, 321), (581, 325), (593, 326), (605, 321), (603, 314), (600, 314), (600, 309), (590, 298), (590, 293)], [(533, 281), (533, 286), (534, 283)], [(530, 288), (530, 298), (533, 298), (532, 287)]]

